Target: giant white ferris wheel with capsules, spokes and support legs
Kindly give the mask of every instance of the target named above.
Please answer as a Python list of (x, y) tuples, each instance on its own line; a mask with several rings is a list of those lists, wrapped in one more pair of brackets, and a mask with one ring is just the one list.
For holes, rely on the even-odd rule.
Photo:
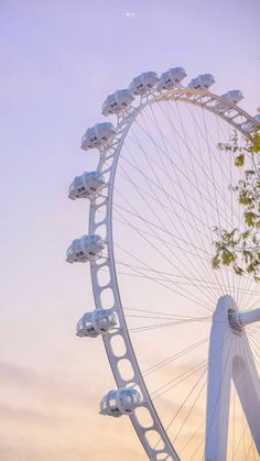
[(260, 116), (209, 91), (210, 74), (185, 77), (139, 75), (82, 139), (99, 162), (69, 187), (89, 229), (66, 259), (89, 262), (96, 309), (77, 334), (102, 338), (116, 386), (100, 414), (129, 417), (150, 460), (259, 459), (259, 290), (212, 259), (216, 228), (245, 227), (242, 173), (219, 146), (246, 145)]

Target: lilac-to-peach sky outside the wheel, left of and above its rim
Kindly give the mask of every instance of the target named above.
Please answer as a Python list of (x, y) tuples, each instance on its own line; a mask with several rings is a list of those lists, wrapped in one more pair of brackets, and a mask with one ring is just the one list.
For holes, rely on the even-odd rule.
[(260, 107), (258, 0), (0, 1), (1, 461), (145, 459), (130, 421), (98, 415), (115, 386), (102, 343), (75, 337), (89, 270), (65, 263), (88, 210), (67, 200), (101, 105), (144, 70), (209, 72)]

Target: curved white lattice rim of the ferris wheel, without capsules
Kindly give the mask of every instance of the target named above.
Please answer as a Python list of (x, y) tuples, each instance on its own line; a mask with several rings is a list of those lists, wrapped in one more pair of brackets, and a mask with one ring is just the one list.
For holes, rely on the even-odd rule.
[[(207, 99), (207, 101), (205, 101)], [(106, 289), (112, 290), (113, 296), (113, 309), (118, 315), (119, 318), (119, 325), (121, 328), (120, 332), (109, 332), (106, 336), (102, 337), (105, 349), (107, 352), (107, 356), (110, 363), (110, 367), (112, 371), (112, 374), (115, 376), (115, 381), (118, 385), (118, 387), (127, 386), (134, 383), (134, 385), (139, 386), (141, 389), (141, 394), (143, 396), (143, 406), (149, 410), (150, 415), (152, 416), (153, 424), (149, 428), (144, 428), (138, 420), (138, 417), (136, 414), (130, 415), (130, 419), (133, 424), (133, 427), (136, 429), (136, 432), (139, 436), (139, 439), (149, 455), (152, 460), (158, 460), (159, 454), (165, 454), (165, 460), (180, 460), (174, 446), (172, 444), (162, 422), (161, 419), (156, 413), (156, 409), (152, 403), (152, 399), (150, 397), (149, 391), (147, 388), (147, 385), (144, 383), (141, 370), (139, 367), (139, 363), (136, 356), (134, 348), (132, 345), (130, 334), (127, 327), (127, 321), (124, 319), (123, 314), (123, 307), (120, 298), (120, 287), (118, 283), (117, 277), (117, 270), (116, 270), (116, 262), (115, 262), (115, 254), (113, 254), (113, 235), (112, 235), (112, 197), (113, 197), (113, 186), (115, 186), (115, 178), (117, 173), (117, 164), (118, 160), (120, 157), (121, 149), (123, 145), (123, 142), (127, 138), (127, 134), (137, 119), (137, 117), (144, 110), (147, 106), (150, 106), (154, 102), (162, 102), (165, 100), (170, 101), (183, 101), (184, 103), (195, 105), (203, 109), (206, 109), (210, 112), (214, 112), (217, 117), (224, 119), (229, 124), (231, 124), (236, 130), (238, 130), (242, 135), (246, 138), (248, 136), (248, 133), (245, 132), (242, 129), (242, 124), (247, 121), (253, 122), (253, 118), (250, 117), (247, 112), (245, 112), (242, 109), (240, 109), (236, 103), (228, 103), (230, 107), (230, 110), (234, 110), (237, 112), (237, 116), (242, 116), (243, 122), (238, 124), (234, 121), (234, 119), (229, 118), (225, 113), (220, 113), (217, 110), (214, 110), (215, 102), (218, 101), (220, 103), (225, 103), (225, 99), (206, 90), (193, 90), (187, 88), (178, 88), (175, 90), (170, 90), (166, 92), (159, 92), (153, 91), (148, 97), (143, 97), (140, 100), (140, 105), (138, 107), (132, 108), (130, 111), (126, 111), (124, 116), (119, 119), (119, 123), (116, 128), (116, 147), (113, 146), (113, 143), (109, 145), (106, 150), (101, 152), (100, 160), (98, 163), (97, 171), (101, 174), (105, 174), (109, 176), (109, 180), (106, 184), (106, 197), (104, 201), (100, 204), (96, 204), (96, 200), (91, 200), (90, 202), (90, 212), (89, 212), (89, 233), (95, 234), (96, 231), (100, 226), (105, 226), (106, 228), (106, 239), (105, 243), (107, 246), (107, 253), (108, 257), (106, 262), (102, 262), (101, 264), (98, 264), (97, 262), (93, 261), (90, 262), (90, 273), (91, 273), (91, 283), (93, 283), (93, 292), (94, 292), (94, 298), (95, 298), (95, 305), (96, 309), (102, 307), (101, 304), (101, 293)], [(208, 103), (210, 102), (210, 105)], [(212, 105), (213, 102), (213, 105)], [(111, 166), (107, 166), (106, 162), (111, 161)], [(97, 221), (96, 213), (98, 210), (100, 210), (101, 207), (106, 208), (105, 218), (101, 219), (101, 221)], [(100, 287), (98, 285), (98, 271), (100, 267), (107, 266), (110, 274), (110, 282), (105, 286)], [(118, 358), (112, 350), (111, 345), (111, 339), (120, 334), (123, 338), (124, 344), (126, 344), (126, 354), (121, 358)], [(133, 378), (132, 380), (123, 380), (120, 375), (118, 362), (119, 360), (127, 359), (130, 361), (132, 370), (133, 370)], [(150, 443), (148, 438), (145, 437), (145, 433), (150, 430), (155, 430), (159, 433), (159, 437), (163, 440), (164, 447), (162, 449), (154, 449)], [(162, 458), (160, 458), (162, 459)]]

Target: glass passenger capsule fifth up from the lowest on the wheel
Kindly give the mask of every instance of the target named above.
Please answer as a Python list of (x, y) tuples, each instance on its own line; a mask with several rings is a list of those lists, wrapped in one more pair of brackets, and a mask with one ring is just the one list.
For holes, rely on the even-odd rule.
[(82, 138), (82, 149), (99, 149), (104, 146), (116, 133), (116, 130), (110, 122), (96, 123), (94, 127), (87, 129)]

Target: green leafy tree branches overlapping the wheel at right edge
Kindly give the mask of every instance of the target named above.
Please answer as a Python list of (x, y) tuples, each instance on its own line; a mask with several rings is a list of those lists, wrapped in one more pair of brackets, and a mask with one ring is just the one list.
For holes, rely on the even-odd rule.
[[(212, 265), (214, 268), (231, 266), (236, 274), (252, 274), (260, 282), (260, 127), (248, 136), (245, 147), (238, 145), (237, 133), (230, 144), (218, 146), (221, 151), (232, 152), (235, 166), (243, 168), (242, 179), (230, 187), (237, 191), (239, 204), (245, 208), (245, 231), (215, 228), (216, 254)], [(251, 161), (251, 169), (247, 169), (248, 161)]]

